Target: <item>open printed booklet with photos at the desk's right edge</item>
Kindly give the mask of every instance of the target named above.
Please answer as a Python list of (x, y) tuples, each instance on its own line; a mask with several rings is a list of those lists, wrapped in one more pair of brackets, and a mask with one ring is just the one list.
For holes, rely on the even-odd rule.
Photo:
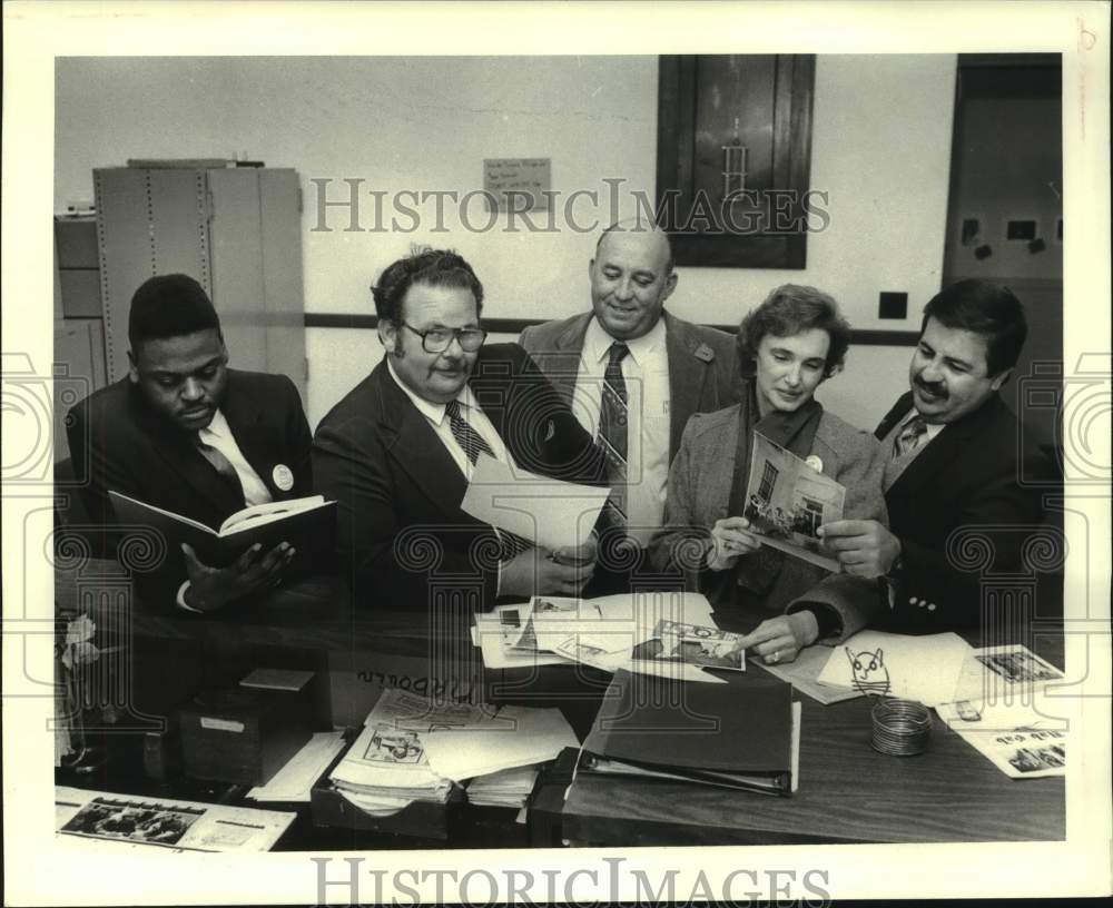
[(1065, 719), (1048, 689), (1063, 672), (1022, 645), (974, 650), (939, 718), (1012, 779), (1066, 774)]

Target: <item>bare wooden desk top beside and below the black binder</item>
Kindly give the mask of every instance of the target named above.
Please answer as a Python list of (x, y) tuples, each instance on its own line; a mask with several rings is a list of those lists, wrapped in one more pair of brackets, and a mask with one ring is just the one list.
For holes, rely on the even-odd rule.
[(929, 749), (869, 743), (871, 702), (802, 701), (799, 790), (780, 798), (581, 773), (565, 838), (590, 845), (777, 845), (1062, 840), (1062, 778), (1014, 780), (933, 713)]

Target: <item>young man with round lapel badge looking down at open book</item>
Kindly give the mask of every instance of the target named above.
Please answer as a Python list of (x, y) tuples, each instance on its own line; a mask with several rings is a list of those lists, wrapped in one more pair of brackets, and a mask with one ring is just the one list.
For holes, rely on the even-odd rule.
[[(118, 525), (110, 491), (214, 530), (247, 505), (309, 494), (311, 435), (297, 389), (286, 376), (228, 368), (220, 322), (200, 284), (180, 274), (145, 282), (131, 299), (128, 338), (127, 377), (68, 417), (73, 470), (95, 524), (116, 526), (116, 542), (134, 529)], [(137, 571), (145, 600), (209, 612), (277, 585), (294, 550), (285, 542), (250, 546), (216, 568), (167, 539), (149, 573), (128, 564), (126, 546), (118, 553)]]

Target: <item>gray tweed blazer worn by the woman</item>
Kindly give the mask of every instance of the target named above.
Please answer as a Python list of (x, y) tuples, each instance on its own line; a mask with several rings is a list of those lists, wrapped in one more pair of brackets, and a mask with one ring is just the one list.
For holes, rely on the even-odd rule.
[[(676, 570), (674, 546), (691, 536), (691, 527), (710, 531), (717, 520), (729, 516), (727, 510), (741, 431), (750, 428), (741, 425), (737, 406), (698, 414), (688, 424), (669, 472), (664, 525), (649, 546), (649, 557), (657, 570)], [(811, 453), (823, 461), (825, 475), (846, 486), (844, 515), (847, 520), (886, 523), (881, 493), (885, 452), (873, 435), (825, 411), (816, 428)], [(684, 561), (691, 563), (690, 554)], [(716, 610), (729, 614), (736, 609), (733, 571), (702, 569), (686, 573), (689, 588), (703, 592)], [(780, 575), (764, 604), (770, 614), (797, 611), (805, 605), (833, 610), (840, 631), (837, 638), (824, 642), (835, 644), (865, 626), (879, 601), (876, 581), (829, 574), (809, 562), (786, 555)]]

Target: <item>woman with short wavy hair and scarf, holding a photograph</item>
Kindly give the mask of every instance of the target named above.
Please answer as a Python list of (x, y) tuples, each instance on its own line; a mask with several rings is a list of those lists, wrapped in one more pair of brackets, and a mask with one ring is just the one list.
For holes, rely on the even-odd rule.
[(746, 501), (757, 432), (844, 485), (845, 519), (885, 523), (881, 445), (815, 399), (841, 371), (849, 344), (838, 305), (814, 287), (786, 284), (749, 313), (738, 332), (741, 403), (689, 420), (663, 526), (650, 543), (654, 566), (683, 571), (720, 623), (758, 625), (747, 647), (770, 664), (790, 662), (819, 638), (845, 639), (879, 601), (877, 581), (831, 574), (765, 545), (746, 516), (790, 519), (780, 509), (759, 514), (761, 503)]

